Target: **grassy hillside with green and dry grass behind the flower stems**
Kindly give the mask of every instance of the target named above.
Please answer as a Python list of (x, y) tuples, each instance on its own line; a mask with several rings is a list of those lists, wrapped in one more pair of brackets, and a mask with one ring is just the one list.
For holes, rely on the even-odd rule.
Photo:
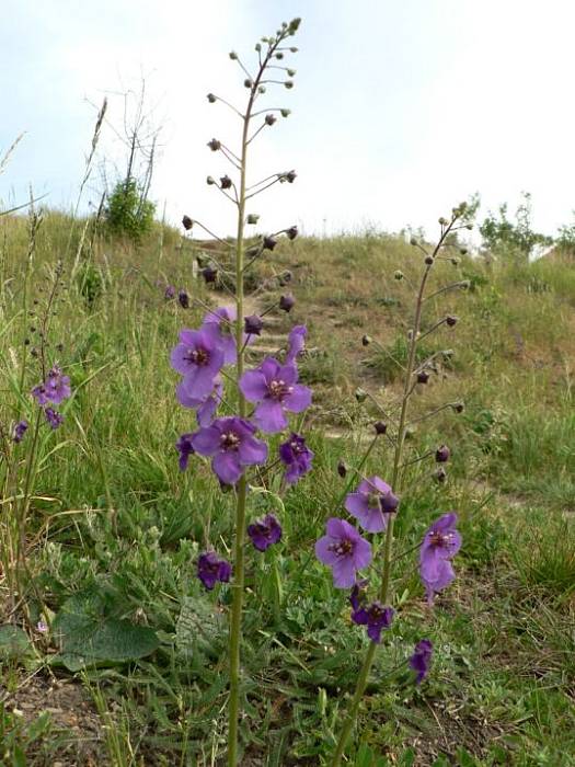
[[(208, 535), (229, 540), (231, 500), (204, 462), (179, 471), (174, 443), (194, 423), (175, 401), (169, 364), (183, 327), (231, 302), (225, 281), (193, 276), (202, 250), (170, 228), (135, 247), (56, 213), (0, 218), (0, 424), (10, 459), (0, 463), (0, 611), (31, 642), (0, 641), (2, 764), (219, 764), (229, 594), (216, 594), (222, 607), (212, 609), (195, 560)], [(302, 238), (281, 241), (250, 278), (253, 311), (285, 290), (297, 299), (289, 317), (266, 314), (254, 360), (280, 347), (294, 322), (308, 325), (301, 378), (314, 389), (306, 428), (317, 456), (286, 501), (283, 554), (250, 564), (245, 765), (323, 764), (353, 690), (367, 640), (311, 554), (345, 486), (337, 462), (354, 465), (381, 417), (369, 396), (386, 410), (398, 396), (419, 267), (421, 253), (395, 237)], [(467, 287), (426, 307), (424, 332), (446, 313), (458, 321), (429, 337), (429, 353), (448, 354), (417, 390), (413, 455), (415, 445), (447, 443), (452, 461), (446, 482), (424, 478), (406, 493), (399, 524), (415, 546), (432, 518), (457, 510), (458, 580), (432, 615), (414, 554), (405, 558), (394, 583), (402, 621), (379, 653), (350, 764), (572, 765), (575, 263), (458, 256), (435, 278)], [(165, 298), (168, 285), (189, 294), (189, 308)], [(36, 417), (28, 392), (42, 378), (43, 328), (44, 354), (70, 376), (73, 397), (62, 425), (41, 431), (28, 470), (26, 442), (8, 443), (13, 423)], [(417, 420), (424, 402), (456, 401), (460, 415)], [(386, 477), (389, 461), (383, 440), (367, 468)], [(14, 510), (25, 488), (30, 581), (14, 594)], [(264, 512), (271, 502), (252, 503)], [(257, 570), (268, 575), (263, 593)], [(159, 646), (124, 662), (114, 645), (74, 672), (56, 632), (38, 629), (42, 603), (60, 620), (149, 627)], [(388, 685), (422, 623), (436, 646), (433, 674), (421, 688), (403, 672)]]

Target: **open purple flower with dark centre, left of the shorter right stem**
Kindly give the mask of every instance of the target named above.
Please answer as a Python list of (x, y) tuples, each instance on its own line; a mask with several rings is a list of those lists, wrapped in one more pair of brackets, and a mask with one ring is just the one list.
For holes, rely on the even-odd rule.
[(315, 557), (332, 568), (336, 588), (349, 588), (356, 572), (371, 562), (371, 546), (345, 519), (327, 519), (326, 533), (315, 542)]

